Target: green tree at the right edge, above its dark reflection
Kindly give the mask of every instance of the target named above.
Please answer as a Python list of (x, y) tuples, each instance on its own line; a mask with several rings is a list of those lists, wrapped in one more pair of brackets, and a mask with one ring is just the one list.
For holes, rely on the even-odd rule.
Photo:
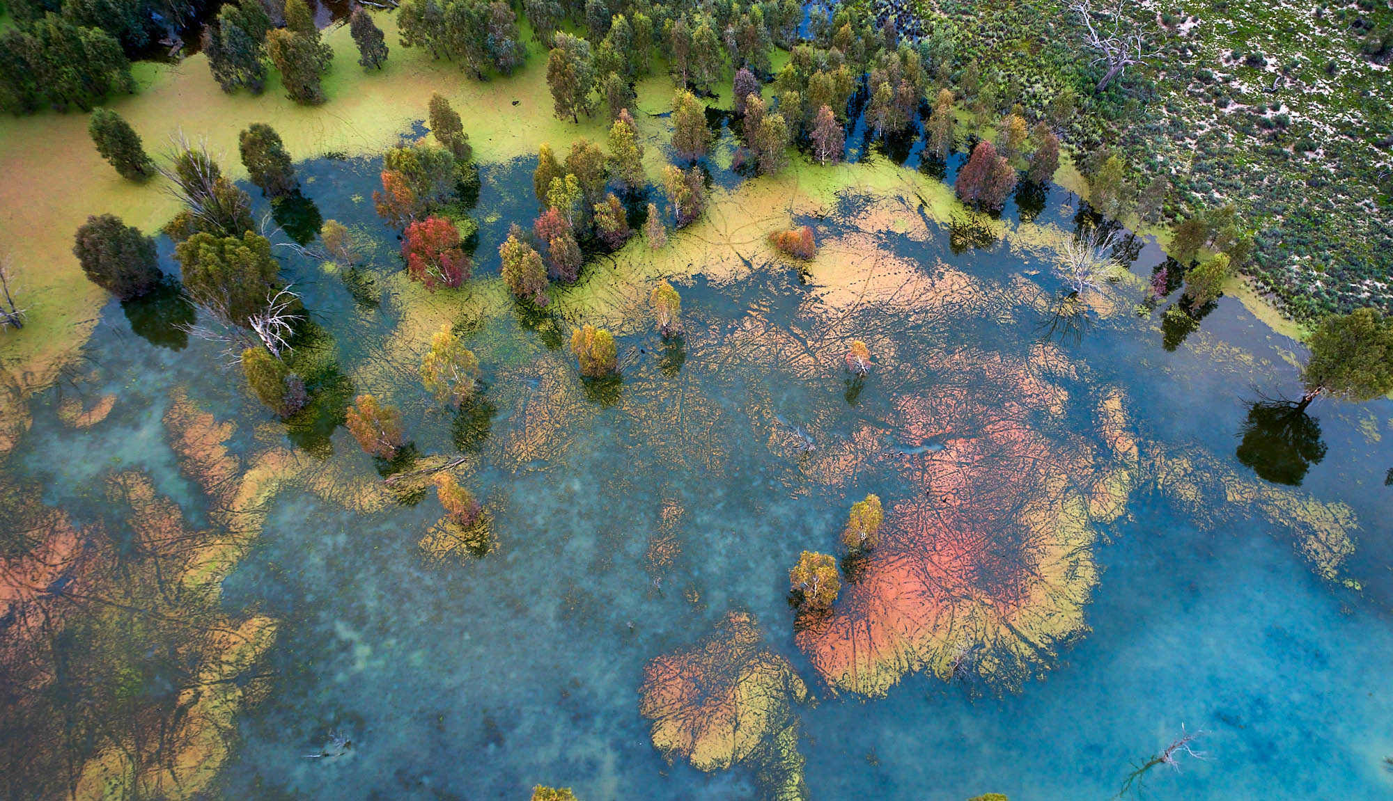
[(1362, 403), (1393, 391), (1393, 320), (1376, 310), (1326, 317), (1307, 345), (1302, 409), (1321, 394)]

